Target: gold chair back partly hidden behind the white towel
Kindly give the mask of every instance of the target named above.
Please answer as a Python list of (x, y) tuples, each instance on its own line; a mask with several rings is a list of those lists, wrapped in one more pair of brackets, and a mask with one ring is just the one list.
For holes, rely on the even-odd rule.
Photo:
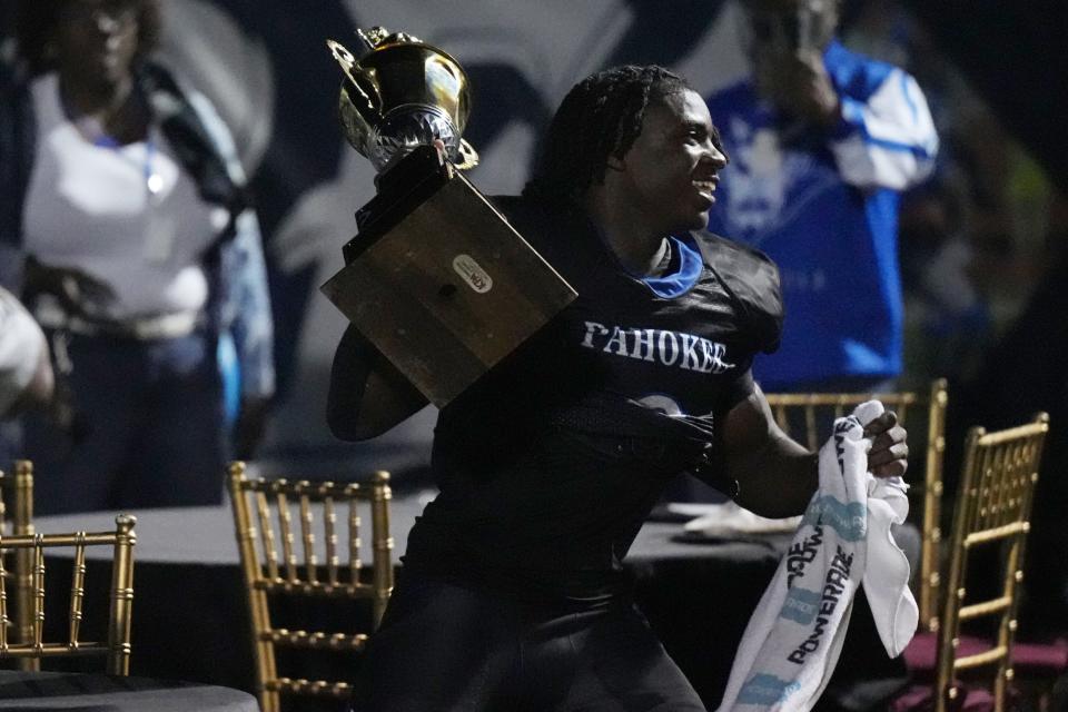
[[(848, 415), (853, 407), (878, 398), (898, 415), (898, 421), (910, 428), (909, 445), (913, 454), (906, 479), (911, 485), (910, 500), (922, 496), (920, 527), (920, 576), (918, 599), (920, 626), (939, 627), (940, 561), (941, 561), (941, 500), (946, 455), (946, 406), (948, 402), (945, 378), (931, 382), (927, 393), (769, 393), (765, 394), (779, 426), (809, 449), (818, 449), (831, 435), (834, 418)], [(924, 439), (920, 439), (926, 434)], [(917, 447), (921, 443), (922, 447)], [(922, 463), (918, 462), (922, 453)], [(922, 473), (922, 477), (920, 476)]]

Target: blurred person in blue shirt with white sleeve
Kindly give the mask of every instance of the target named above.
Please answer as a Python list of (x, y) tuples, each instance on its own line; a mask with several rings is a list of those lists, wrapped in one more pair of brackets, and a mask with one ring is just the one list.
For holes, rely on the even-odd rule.
[(899, 194), (938, 137), (901, 69), (846, 49), (838, 0), (744, 0), (752, 76), (709, 100), (732, 161), (709, 229), (781, 270), (782, 349), (765, 390), (880, 390), (902, 369)]

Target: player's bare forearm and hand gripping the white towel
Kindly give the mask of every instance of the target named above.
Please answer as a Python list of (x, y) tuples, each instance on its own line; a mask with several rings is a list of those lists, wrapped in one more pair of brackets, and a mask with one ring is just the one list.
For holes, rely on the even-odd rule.
[[(903, 475), (909, 451), (897, 416), (883, 413), (864, 433), (873, 438), (869, 471), (879, 477)], [(783, 433), (759, 386), (728, 412), (721, 443), (726, 475), (739, 483), (740, 505), (770, 517), (804, 511), (819, 484), (817, 453)]]

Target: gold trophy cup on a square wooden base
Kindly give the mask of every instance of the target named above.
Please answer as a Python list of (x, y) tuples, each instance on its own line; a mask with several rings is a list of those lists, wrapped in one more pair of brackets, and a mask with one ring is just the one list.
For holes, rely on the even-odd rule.
[(403, 32), (357, 30), (339, 120), (378, 176), (345, 267), (320, 289), (427, 399), (443, 407), (575, 298), (467, 180), (471, 87), (449, 55)]

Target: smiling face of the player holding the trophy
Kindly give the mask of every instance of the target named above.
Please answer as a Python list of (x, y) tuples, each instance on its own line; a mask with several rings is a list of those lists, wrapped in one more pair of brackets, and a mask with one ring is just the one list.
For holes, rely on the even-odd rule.
[(622, 160), (627, 199), (665, 234), (705, 227), (728, 162), (718, 142), (709, 108), (695, 91), (653, 101)]

